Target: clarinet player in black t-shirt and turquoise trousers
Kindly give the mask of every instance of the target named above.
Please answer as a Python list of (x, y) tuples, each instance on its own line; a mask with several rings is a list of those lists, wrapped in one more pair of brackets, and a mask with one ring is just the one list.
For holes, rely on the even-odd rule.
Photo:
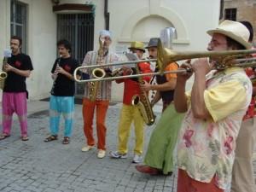
[(75, 83), (73, 71), (79, 67), (78, 61), (71, 56), (71, 44), (66, 39), (57, 42), (58, 52), (61, 55), (55, 60), (51, 75), (54, 83), (49, 98), (49, 130), (50, 136), (44, 142), (57, 139), (61, 113), (65, 119), (63, 144), (70, 142), (73, 130), (74, 92)]

